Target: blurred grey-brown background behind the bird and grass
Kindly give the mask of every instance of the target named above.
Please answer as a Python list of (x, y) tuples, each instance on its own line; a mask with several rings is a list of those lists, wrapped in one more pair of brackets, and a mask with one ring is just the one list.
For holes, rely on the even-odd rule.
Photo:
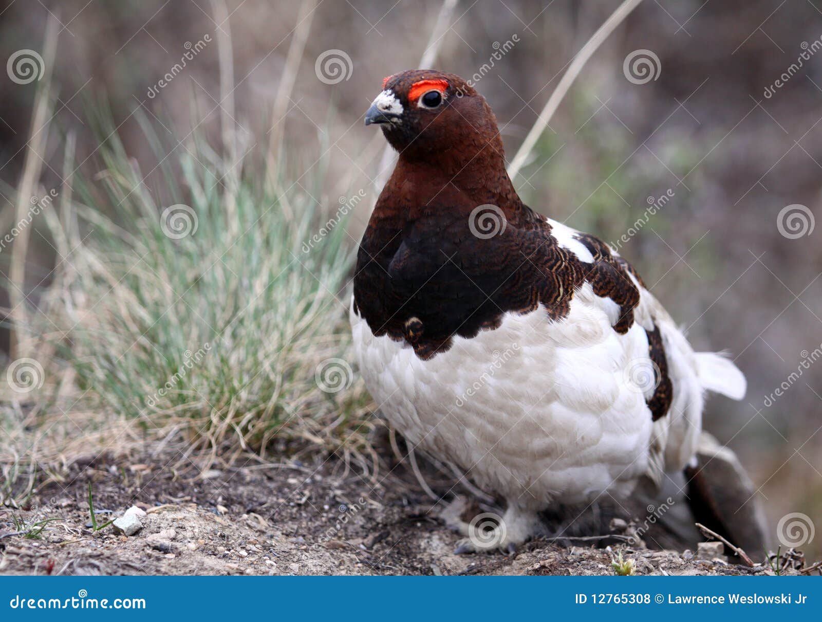
[[(519, 39), (477, 83), (496, 112), (510, 158), (567, 63), (617, 5), (459, 2), (436, 68), (470, 77), (490, 66), (497, 47)], [(335, 204), (360, 188), (373, 202), (383, 142), (363, 127), (363, 113), (382, 77), (418, 65), (441, 2), (325, 0), (307, 12), (298, 2), (229, 0), (227, 18), (221, 5), (207, 0), (4, 0), (0, 7), (3, 63), (16, 50), (43, 49), (49, 12), (62, 24), (53, 72), (59, 132), (44, 157), (45, 188), (61, 183), (61, 134), (76, 133), (79, 159), (90, 156), (85, 166), (94, 169), (96, 145), (85, 111), (101, 100), (109, 102), (127, 150), (144, 170), (152, 159), (136, 109), (155, 115), (168, 135), (184, 137), (192, 118), (203, 115), (201, 127), (218, 132), (223, 102), (215, 38), (222, 29), (233, 42), (233, 117), (243, 148), (267, 142), (272, 128), (284, 132), (293, 155), (284, 166), (296, 179), (330, 149), (329, 178), (339, 183), (322, 188), (318, 198)], [(307, 44), (286, 113), (272, 119), (293, 30), (307, 15)], [(150, 97), (187, 44), (205, 35), (211, 42)], [(822, 347), (822, 224), (795, 239), (778, 228), (786, 206), (820, 214), (822, 50), (812, 45), (820, 37), (822, 2), (647, 0), (594, 54), (515, 179), (531, 207), (608, 241), (643, 215), (649, 197), (671, 191), (670, 202), (621, 252), (688, 328), (697, 350), (728, 350), (746, 373), (746, 399), (713, 398), (706, 427), (739, 453), (772, 526), (792, 512), (822, 518), (822, 362), (788, 379)], [(658, 57), (657, 79), (636, 84), (626, 78), (623, 63), (638, 49)], [(328, 84), (318, 78), (315, 61), (326, 50), (351, 59), (347, 79)], [(809, 58), (802, 67), (766, 97), (765, 89), (803, 52)], [(19, 181), (34, 94), (34, 85), (2, 81), (2, 188)], [(0, 196), (3, 232), (13, 214), (6, 194)], [(351, 224), (354, 238), (366, 220), (363, 202)], [(26, 293), (36, 303), (55, 258), (44, 227), (35, 221), (33, 228)], [(7, 267), (2, 253), (3, 277)], [(783, 383), (784, 395), (766, 406)], [(818, 552), (819, 541), (806, 549)]]

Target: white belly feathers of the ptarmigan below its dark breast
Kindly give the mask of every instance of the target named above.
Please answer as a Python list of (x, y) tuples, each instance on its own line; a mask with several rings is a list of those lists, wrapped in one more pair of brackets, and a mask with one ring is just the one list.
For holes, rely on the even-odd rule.
[(409, 443), (450, 459), (483, 489), (541, 509), (630, 494), (651, 468), (659, 422), (641, 384), (653, 378), (648, 337), (636, 323), (615, 332), (612, 308), (586, 283), (559, 322), (542, 308), (506, 313), (500, 327), (454, 337), (430, 360), (374, 337), (353, 310), (351, 323), (366, 386)]

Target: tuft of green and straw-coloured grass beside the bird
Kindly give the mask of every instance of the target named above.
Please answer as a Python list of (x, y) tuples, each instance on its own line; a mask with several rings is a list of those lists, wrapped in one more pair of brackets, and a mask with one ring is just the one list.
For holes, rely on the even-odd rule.
[(315, 237), (323, 180), (268, 191), (252, 163), (265, 154), (233, 162), (229, 210), (229, 160), (193, 135), (172, 151), (143, 122), (162, 183), (150, 189), (102, 115), (102, 169), (77, 174), (64, 213), (46, 215), (69, 251), (27, 327), (45, 382), (0, 408), (0, 462), (15, 465), (3, 493), (28, 490), (35, 464), (146, 441), (181, 459), (344, 446), (365, 462), (367, 394), (348, 362), (353, 244), (344, 221)]

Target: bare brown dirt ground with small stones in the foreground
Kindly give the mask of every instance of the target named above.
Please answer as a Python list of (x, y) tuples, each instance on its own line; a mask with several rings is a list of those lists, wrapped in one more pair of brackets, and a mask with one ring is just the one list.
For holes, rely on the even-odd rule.
[[(619, 551), (636, 574), (773, 573), (626, 545), (533, 541), (515, 555), (455, 555), (460, 536), (437, 518), (441, 508), (393, 474), (375, 484), (330, 460), (193, 478), (193, 468), (140, 458), (74, 462), (23, 508), (0, 508), (0, 573), (608, 575)], [(94, 531), (89, 482), (98, 526), (136, 505), (147, 512), (141, 530)], [(42, 531), (17, 533), (34, 525)]]

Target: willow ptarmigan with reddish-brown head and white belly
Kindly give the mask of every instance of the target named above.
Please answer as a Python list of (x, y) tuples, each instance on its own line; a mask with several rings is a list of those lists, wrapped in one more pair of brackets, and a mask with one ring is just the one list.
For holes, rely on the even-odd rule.
[(745, 393), (734, 364), (694, 352), (613, 248), (520, 201), (496, 118), (464, 80), (387, 77), (365, 123), (399, 160), (358, 252), (359, 368), (411, 446), (504, 499), (500, 548), (537, 534), (552, 504), (685, 469), (704, 392)]

